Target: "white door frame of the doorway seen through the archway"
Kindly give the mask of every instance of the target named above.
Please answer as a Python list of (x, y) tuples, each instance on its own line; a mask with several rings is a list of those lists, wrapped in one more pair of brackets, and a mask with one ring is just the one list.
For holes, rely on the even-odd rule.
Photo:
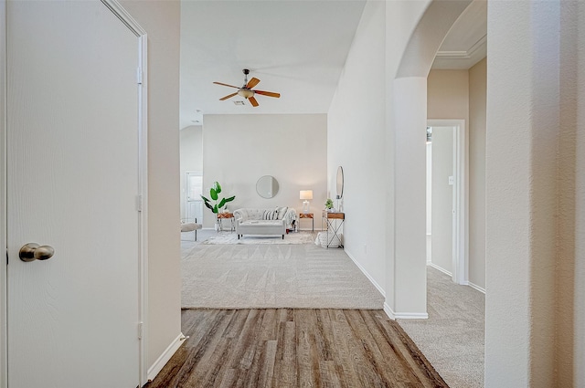
[(469, 133), (464, 120), (428, 120), (429, 127), (453, 127), (452, 281), (469, 284)]

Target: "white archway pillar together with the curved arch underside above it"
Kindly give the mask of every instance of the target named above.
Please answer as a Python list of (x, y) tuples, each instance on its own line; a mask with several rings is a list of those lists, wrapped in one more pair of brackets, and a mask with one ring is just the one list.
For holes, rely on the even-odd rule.
[(394, 266), (387, 309), (394, 318), (427, 318), (425, 139), (427, 76), (444, 37), (472, 0), (433, 0), (412, 33), (392, 89)]

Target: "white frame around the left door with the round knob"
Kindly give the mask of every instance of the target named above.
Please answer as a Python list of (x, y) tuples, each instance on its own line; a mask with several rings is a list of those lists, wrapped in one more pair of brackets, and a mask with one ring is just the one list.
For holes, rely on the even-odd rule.
[[(146, 31), (140, 26), (133, 17), (118, 3), (117, 0), (101, 0), (101, 3), (107, 6), (112, 13), (118, 17), (122, 23), (127, 26), (138, 38), (138, 68), (136, 71), (136, 83), (138, 88), (138, 168), (139, 182), (138, 199), (139, 209), (139, 290), (138, 290), (138, 309), (139, 320), (142, 322), (142, 338), (139, 349), (139, 367), (140, 367), (140, 386), (147, 382), (148, 358), (148, 85), (147, 85), (147, 36)], [(0, 20), (4, 21), (6, 26), (6, 0), (0, 0)], [(0, 150), (3, 157), (0, 158), (0, 252), (6, 252), (6, 30), (0, 32)], [(6, 265), (7, 256), (2, 255), (2, 264), (0, 265), (0, 388), (8, 388), (8, 346), (7, 346), (7, 278)]]

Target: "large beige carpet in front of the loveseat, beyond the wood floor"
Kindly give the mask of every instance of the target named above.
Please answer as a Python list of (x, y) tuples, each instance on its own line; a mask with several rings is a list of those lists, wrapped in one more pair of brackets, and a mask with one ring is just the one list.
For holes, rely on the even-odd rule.
[(382, 295), (343, 249), (182, 246), (183, 309), (383, 309)]

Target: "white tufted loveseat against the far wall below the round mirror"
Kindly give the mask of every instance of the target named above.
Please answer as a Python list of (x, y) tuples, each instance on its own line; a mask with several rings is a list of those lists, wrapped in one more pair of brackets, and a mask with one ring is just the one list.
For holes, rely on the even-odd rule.
[(244, 207), (234, 211), (236, 234), (282, 236), (293, 229), (296, 223), (296, 211), (291, 207), (272, 207), (260, 209)]

